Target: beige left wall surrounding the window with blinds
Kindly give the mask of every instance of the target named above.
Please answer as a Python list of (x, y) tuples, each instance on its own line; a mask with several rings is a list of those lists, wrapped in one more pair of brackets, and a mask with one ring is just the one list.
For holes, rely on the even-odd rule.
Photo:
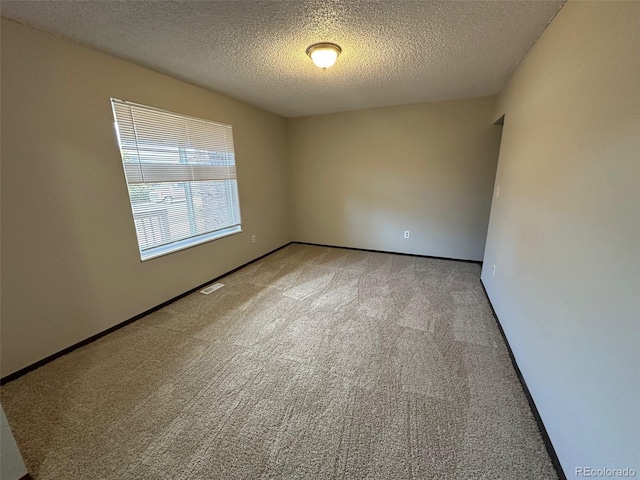
[[(243, 233), (140, 262), (110, 97), (233, 125)], [(285, 139), (278, 116), (2, 19), (1, 374), (287, 243)]]

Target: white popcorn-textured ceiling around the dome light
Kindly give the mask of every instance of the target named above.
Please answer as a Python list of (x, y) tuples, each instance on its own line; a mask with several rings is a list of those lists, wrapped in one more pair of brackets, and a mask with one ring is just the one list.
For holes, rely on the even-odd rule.
[[(286, 117), (493, 95), (564, 0), (10, 1), (2, 16)], [(322, 71), (307, 46), (342, 47)]]

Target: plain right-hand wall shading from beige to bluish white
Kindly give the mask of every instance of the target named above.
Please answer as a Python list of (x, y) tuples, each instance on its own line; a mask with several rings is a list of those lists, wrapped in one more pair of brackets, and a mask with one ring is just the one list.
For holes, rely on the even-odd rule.
[(639, 26), (638, 2), (568, 2), (495, 115), (482, 280), (569, 478), (640, 472)]

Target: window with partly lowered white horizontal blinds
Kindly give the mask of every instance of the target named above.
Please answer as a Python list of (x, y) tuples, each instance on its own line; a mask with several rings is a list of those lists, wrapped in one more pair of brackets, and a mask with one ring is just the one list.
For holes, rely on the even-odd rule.
[(111, 104), (142, 260), (242, 231), (230, 125)]

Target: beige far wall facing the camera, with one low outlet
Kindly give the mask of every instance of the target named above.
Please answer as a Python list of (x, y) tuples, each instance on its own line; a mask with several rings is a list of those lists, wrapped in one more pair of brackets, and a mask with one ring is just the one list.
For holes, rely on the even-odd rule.
[(289, 120), (293, 240), (482, 259), (493, 109), (487, 97)]

